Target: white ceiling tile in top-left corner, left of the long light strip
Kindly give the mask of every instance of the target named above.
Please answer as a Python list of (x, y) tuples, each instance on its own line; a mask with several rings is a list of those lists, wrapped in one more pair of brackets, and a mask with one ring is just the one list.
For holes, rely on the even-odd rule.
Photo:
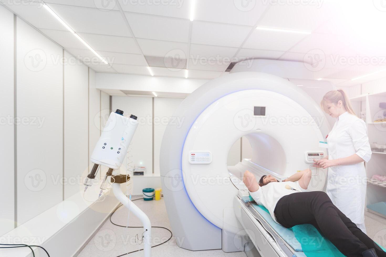
[(25, 0), (18, 1), (19, 4), (7, 0), (0, 0), (0, 2), (36, 28), (67, 30), (40, 2)]

